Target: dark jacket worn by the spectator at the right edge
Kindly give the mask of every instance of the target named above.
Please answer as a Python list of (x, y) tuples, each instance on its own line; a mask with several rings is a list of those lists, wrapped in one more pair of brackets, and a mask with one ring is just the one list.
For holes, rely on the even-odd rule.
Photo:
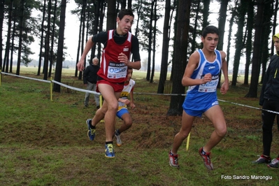
[(273, 55), (264, 75), (262, 91), (259, 96), (259, 105), (264, 104), (264, 99), (279, 101), (279, 56)]

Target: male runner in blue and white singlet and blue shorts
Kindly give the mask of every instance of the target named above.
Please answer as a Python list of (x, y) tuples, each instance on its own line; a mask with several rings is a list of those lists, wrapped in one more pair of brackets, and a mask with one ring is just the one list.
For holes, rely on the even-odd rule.
[(215, 130), (208, 142), (199, 149), (199, 155), (207, 169), (213, 170), (210, 160), (210, 151), (220, 143), (227, 133), (227, 124), (224, 114), (217, 101), (217, 84), (220, 70), (224, 74), (224, 83), (220, 88), (222, 94), (229, 90), (229, 78), (226, 54), (215, 50), (219, 41), (217, 27), (208, 26), (203, 29), (201, 41), (203, 48), (196, 50), (190, 57), (182, 79), (183, 86), (189, 86), (183, 103), (183, 117), (180, 131), (173, 140), (173, 147), (169, 151), (169, 164), (179, 168), (178, 148), (189, 135), (195, 117), (206, 115), (213, 123)]

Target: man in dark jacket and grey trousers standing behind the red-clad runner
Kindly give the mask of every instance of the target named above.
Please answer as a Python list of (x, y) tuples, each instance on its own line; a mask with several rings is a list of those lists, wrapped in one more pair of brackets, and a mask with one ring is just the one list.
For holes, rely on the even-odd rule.
[[(87, 90), (93, 90), (96, 92), (96, 83), (97, 83), (97, 72), (99, 71), (99, 59), (94, 57), (92, 59), (92, 64), (86, 67), (85, 71), (83, 72), (83, 84), (86, 86)], [(85, 93), (85, 107), (88, 106), (90, 99), (90, 93)], [(100, 108), (100, 96), (98, 94), (94, 94), (94, 99), (96, 103), (96, 108)]]

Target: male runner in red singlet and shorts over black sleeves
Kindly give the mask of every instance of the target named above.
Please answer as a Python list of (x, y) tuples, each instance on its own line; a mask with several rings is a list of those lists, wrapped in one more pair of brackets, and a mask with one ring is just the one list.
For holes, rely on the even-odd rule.
[[(113, 136), (115, 134), (115, 117), (118, 108), (118, 99), (127, 80), (128, 68), (141, 69), (138, 38), (129, 32), (134, 23), (134, 13), (130, 9), (122, 9), (117, 15), (117, 28), (115, 30), (101, 31), (91, 37), (83, 50), (83, 55), (77, 64), (79, 71), (83, 71), (85, 57), (95, 43), (103, 43), (101, 68), (98, 71), (97, 89), (104, 101), (101, 108), (96, 111), (93, 119), (87, 120), (88, 136), (94, 140), (94, 125), (105, 120), (106, 143), (105, 156), (113, 158)], [(130, 61), (131, 54), (134, 62)]]

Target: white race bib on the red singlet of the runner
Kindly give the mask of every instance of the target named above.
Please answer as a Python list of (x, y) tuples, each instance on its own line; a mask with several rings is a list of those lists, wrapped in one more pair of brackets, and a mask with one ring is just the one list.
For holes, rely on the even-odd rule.
[(127, 66), (124, 63), (109, 62), (108, 78), (118, 79), (125, 78), (127, 75)]

